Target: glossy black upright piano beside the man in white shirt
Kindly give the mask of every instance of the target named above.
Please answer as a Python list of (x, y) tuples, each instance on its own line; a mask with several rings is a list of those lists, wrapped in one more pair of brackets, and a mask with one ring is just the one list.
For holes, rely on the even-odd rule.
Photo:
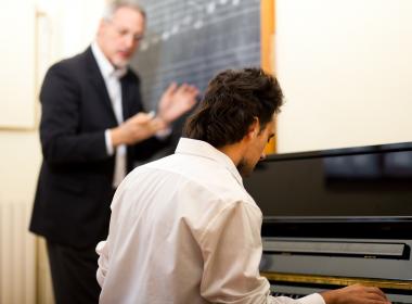
[(412, 142), (270, 155), (244, 183), (273, 294), (360, 282), (412, 303)]

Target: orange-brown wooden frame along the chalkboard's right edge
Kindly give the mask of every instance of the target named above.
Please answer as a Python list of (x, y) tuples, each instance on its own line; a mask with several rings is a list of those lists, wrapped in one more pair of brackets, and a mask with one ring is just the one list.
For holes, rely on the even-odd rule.
[[(260, 1), (260, 65), (270, 74), (274, 74), (273, 36), (275, 30), (275, 0)], [(276, 127), (274, 127), (276, 132)], [(276, 151), (275, 137), (265, 148), (267, 154)]]

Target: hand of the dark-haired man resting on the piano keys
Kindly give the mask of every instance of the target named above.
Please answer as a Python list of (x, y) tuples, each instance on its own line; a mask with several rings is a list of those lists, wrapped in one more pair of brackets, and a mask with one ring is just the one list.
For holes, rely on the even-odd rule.
[(325, 291), (321, 295), (326, 304), (390, 304), (381, 289), (362, 284)]

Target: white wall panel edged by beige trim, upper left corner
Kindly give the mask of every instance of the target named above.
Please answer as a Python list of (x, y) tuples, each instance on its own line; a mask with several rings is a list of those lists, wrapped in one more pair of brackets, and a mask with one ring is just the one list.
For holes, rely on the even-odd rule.
[(27, 50), (35, 47), (34, 3), (0, 0), (0, 127), (33, 128), (35, 53)]

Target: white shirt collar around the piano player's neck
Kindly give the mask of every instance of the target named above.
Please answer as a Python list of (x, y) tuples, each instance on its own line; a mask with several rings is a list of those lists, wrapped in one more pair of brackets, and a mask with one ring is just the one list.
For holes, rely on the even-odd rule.
[(239, 170), (234, 165), (233, 161), (227, 154), (220, 152), (206, 141), (190, 138), (180, 138), (175, 153), (192, 154), (214, 160), (215, 162), (218, 162), (219, 164), (223, 165), (227, 169), (229, 169), (229, 172), (233, 175), (237, 182), (243, 186), (242, 177), (239, 174)]

